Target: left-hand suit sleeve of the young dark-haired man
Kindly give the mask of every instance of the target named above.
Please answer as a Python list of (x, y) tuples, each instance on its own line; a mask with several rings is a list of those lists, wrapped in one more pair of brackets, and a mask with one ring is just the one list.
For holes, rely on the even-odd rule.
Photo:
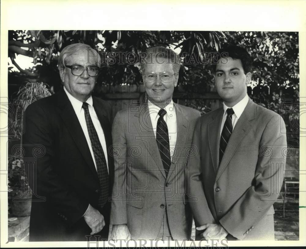
[(188, 159), (188, 199), (196, 226), (216, 223), (208, 207), (202, 184), (201, 118), (196, 122)]

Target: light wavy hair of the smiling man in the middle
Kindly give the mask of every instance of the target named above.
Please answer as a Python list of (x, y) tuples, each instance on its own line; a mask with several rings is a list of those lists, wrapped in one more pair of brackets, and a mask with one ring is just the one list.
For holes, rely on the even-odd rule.
[(174, 73), (179, 72), (181, 66), (181, 58), (173, 50), (163, 46), (147, 48), (144, 58), (141, 58), (139, 63), (141, 72), (144, 72), (146, 64), (153, 63), (153, 59), (157, 61), (157, 58), (166, 59), (166, 63), (171, 63), (173, 65)]

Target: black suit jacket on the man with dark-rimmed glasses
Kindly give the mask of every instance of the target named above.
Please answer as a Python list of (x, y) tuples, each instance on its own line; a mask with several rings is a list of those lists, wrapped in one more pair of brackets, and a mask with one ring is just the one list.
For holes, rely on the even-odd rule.
[[(92, 98), (109, 148), (111, 106)], [(33, 191), (30, 241), (86, 240), (91, 229), (82, 216), (89, 203), (98, 208), (100, 184), (83, 130), (64, 90), (29, 105), (24, 118), (24, 161), (34, 162), (25, 167)], [(107, 153), (112, 182), (113, 159)], [(104, 237), (109, 229), (109, 206), (100, 210), (106, 220)]]

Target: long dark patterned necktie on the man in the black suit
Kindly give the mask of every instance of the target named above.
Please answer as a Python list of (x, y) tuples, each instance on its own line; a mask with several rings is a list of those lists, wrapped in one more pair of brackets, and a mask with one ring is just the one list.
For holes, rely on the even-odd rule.
[(91, 148), (94, 153), (95, 163), (97, 167), (97, 173), (99, 177), (99, 182), (101, 186), (101, 192), (99, 196), (98, 204), (100, 207), (103, 207), (107, 202), (109, 195), (109, 177), (107, 172), (107, 164), (104, 155), (104, 151), (102, 145), (100, 143), (97, 131), (95, 130), (95, 126), (92, 123), (91, 117), (89, 115), (88, 103), (84, 102), (82, 108), (85, 113), (86, 126), (88, 130), (88, 135), (91, 142)]

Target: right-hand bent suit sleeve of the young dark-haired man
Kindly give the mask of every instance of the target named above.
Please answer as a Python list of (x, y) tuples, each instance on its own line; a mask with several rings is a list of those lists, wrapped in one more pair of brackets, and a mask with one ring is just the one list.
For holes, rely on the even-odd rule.
[[(260, 140), (254, 184), (220, 219), (221, 225), (237, 239), (244, 239), (245, 232), (266, 215), (277, 199), (284, 178), (286, 147), (285, 123), (279, 115), (273, 116)], [(282, 159), (275, 161), (277, 158)]]

